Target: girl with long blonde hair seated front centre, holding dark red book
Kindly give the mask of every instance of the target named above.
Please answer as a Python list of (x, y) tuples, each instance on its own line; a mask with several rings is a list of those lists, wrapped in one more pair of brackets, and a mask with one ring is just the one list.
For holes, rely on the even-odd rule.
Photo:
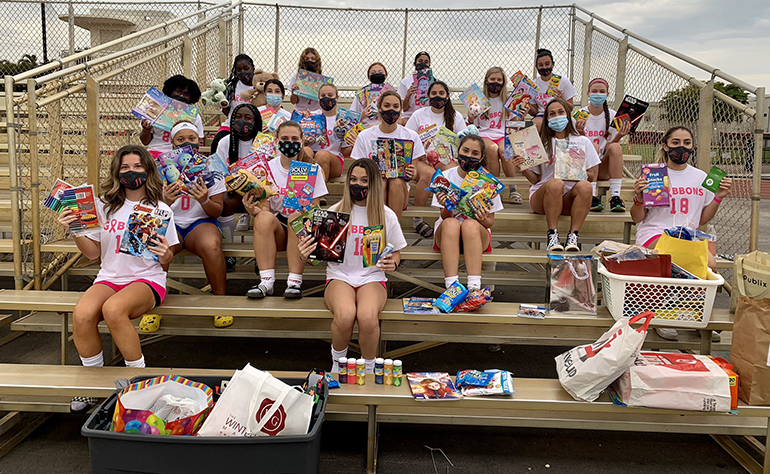
[[(358, 342), (366, 360), (366, 373), (374, 370), (374, 357), (380, 341), (379, 315), (388, 298), (385, 272), (398, 268), (400, 250), (406, 247), (396, 213), (385, 205), (383, 181), (377, 164), (368, 158), (353, 163), (345, 177), (342, 200), (330, 210), (350, 213), (350, 231), (347, 235), (343, 263), (329, 263), (326, 270), (324, 300), (332, 320), (332, 372), (338, 372), (340, 357), (347, 357), (353, 326), (358, 321)], [(382, 226), (382, 248), (393, 244), (395, 251), (377, 262), (364, 267), (364, 229)], [(307, 260), (315, 248), (312, 237), (300, 246), (301, 258)]]

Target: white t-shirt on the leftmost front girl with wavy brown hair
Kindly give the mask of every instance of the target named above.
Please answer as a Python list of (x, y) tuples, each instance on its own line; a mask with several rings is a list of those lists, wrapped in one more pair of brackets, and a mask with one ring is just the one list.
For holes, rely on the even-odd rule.
[[(174, 214), (166, 203), (160, 201), (158, 206), (153, 208), (149, 205), (126, 200), (123, 203), (123, 207), (107, 219), (104, 202), (101, 199), (96, 199), (96, 212), (99, 214), (99, 219), (104, 223), (104, 226), (98, 234), (88, 236), (89, 239), (99, 242), (102, 248), (102, 266), (94, 282), (108, 281), (116, 285), (127, 285), (132, 281), (143, 278), (165, 288), (166, 271), (163, 270), (160, 263), (119, 252), (120, 239), (123, 238), (123, 233), (126, 231), (126, 223), (128, 223), (131, 213), (134, 212), (135, 206), (141, 206), (150, 210), (157, 208), (161, 211), (166, 211), (171, 216), (168, 222), (168, 229), (166, 229), (168, 245), (171, 246), (179, 243), (176, 227), (174, 227)], [(147, 211), (145, 210), (144, 212)]]

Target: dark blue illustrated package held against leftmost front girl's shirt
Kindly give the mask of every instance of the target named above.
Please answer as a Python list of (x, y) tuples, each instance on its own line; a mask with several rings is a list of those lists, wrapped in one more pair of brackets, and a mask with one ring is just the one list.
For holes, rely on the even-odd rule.
[(120, 238), (120, 253), (158, 261), (158, 256), (148, 250), (155, 247), (152, 239), (159, 235), (165, 237), (171, 213), (159, 208), (134, 206), (134, 212), (128, 217), (126, 230)]

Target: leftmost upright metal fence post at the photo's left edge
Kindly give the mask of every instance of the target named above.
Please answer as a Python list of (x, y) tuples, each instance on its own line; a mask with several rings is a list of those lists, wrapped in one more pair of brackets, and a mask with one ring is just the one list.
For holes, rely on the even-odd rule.
[(16, 131), (21, 125), (13, 113), (13, 76), (5, 76), (5, 124), (8, 134), (8, 168), (10, 170), (11, 188), (11, 224), (13, 225), (13, 285), (17, 290), (24, 287), (22, 277), (21, 240), (24, 237), (21, 231), (21, 215), (19, 204), (21, 203), (19, 187), (19, 169), (16, 162)]

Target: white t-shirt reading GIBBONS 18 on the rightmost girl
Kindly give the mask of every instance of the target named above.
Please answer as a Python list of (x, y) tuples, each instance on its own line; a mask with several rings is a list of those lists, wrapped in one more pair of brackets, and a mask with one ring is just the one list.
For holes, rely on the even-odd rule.
[[(644, 245), (656, 235), (675, 225), (691, 223), (700, 225), (703, 208), (714, 200), (714, 193), (702, 184), (706, 172), (687, 165), (682, 171), (668, 169), (668, 184), (671, 194), (671, 207), (652, 207), (636, 228), (636, 243)], [(682, 217), (684, 214), (687, 219)]]

